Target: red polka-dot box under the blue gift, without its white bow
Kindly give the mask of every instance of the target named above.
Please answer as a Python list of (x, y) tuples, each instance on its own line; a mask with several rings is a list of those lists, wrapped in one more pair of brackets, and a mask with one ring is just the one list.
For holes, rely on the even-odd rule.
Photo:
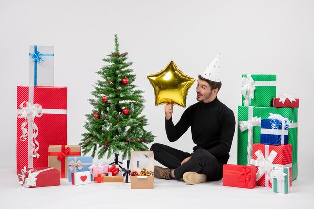
[[(283, 165), (284, 167), (290, 168), (290, 186), (292, 186), (292, 145), (286, 144), (286, 145), (266, 145), (266, 144), (253, 144), (253, 159), (257, 159), (256, 153), (260, 151), (265, 158), (265, 160), (268, 159), (268, 157), (272, 157), (272, 151), (275, 151), (277, 155), (273, 155), (274, 160), (271, 163), (271, 168), (273, 169), (274, 165)], [(265, 155), (266, 153), (266, 155)], [(253, 160), (253, 161), (254, 161)], [(251, 163), (253, 164), (253, 163)], [(268, 166), (266, 165), (266, 168)], [(265, 168), (264, 166), (260, 169)], [(259, 169), (259, 168), (258, 168)], [(269, 169), (268, 169), (269, 171)], [(268, 176), (271, 175), (271, 173), (267, 173)], [(256, 176), (256, 185), (258, 186), (266, 186), (272, 188), (272, 183), (270, 180), (265, 180), (265, 174), (262, 175), (262, 177), (258, 180), (258, 172)]]

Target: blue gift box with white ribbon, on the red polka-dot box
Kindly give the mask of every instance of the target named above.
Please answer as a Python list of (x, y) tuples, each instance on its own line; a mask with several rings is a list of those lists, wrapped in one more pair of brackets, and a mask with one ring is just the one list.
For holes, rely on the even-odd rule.
[(269, 145), (288, 144), (289, 125), (285, 122), (277, 119), (262, 119), (260, 143)]

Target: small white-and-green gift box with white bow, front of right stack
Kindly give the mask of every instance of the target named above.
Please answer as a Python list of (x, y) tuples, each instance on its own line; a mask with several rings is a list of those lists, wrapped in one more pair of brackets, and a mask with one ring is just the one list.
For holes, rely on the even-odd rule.
[[(292, 169), (293, 170), (293, 169)], [(272, 176), (272, 190), (275, 193), (287, 194), (290, 192), (289, 178), (290, 172), (288, 167), (275, 166), (273, 167)]]

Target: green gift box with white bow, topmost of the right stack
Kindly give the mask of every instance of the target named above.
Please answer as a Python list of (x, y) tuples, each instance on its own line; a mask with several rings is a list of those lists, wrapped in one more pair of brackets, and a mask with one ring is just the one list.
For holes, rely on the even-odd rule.
[(276, 79), (276, 75), (242, 75), (242, 105), (271, 107), (277, 93)]

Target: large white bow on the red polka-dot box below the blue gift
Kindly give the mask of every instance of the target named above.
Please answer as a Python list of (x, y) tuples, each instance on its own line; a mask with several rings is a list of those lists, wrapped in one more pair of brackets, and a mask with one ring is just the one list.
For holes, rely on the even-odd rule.
[(272, 150), (267, 159), (265, 159), (261, 150), (256, 151), (255, 154), (257, 156), (257, 159), (256, 160), (251, 159), (250, 164), (258, 166), (258, 171), (256, 173), (256, 181), (258, 181), (265, 174), (266, 185), (266, 182), (268, 182), (268, 180), (271, 179), (271, 170), (273, 167), (272, 162), (274, 161), (278, 153)]

